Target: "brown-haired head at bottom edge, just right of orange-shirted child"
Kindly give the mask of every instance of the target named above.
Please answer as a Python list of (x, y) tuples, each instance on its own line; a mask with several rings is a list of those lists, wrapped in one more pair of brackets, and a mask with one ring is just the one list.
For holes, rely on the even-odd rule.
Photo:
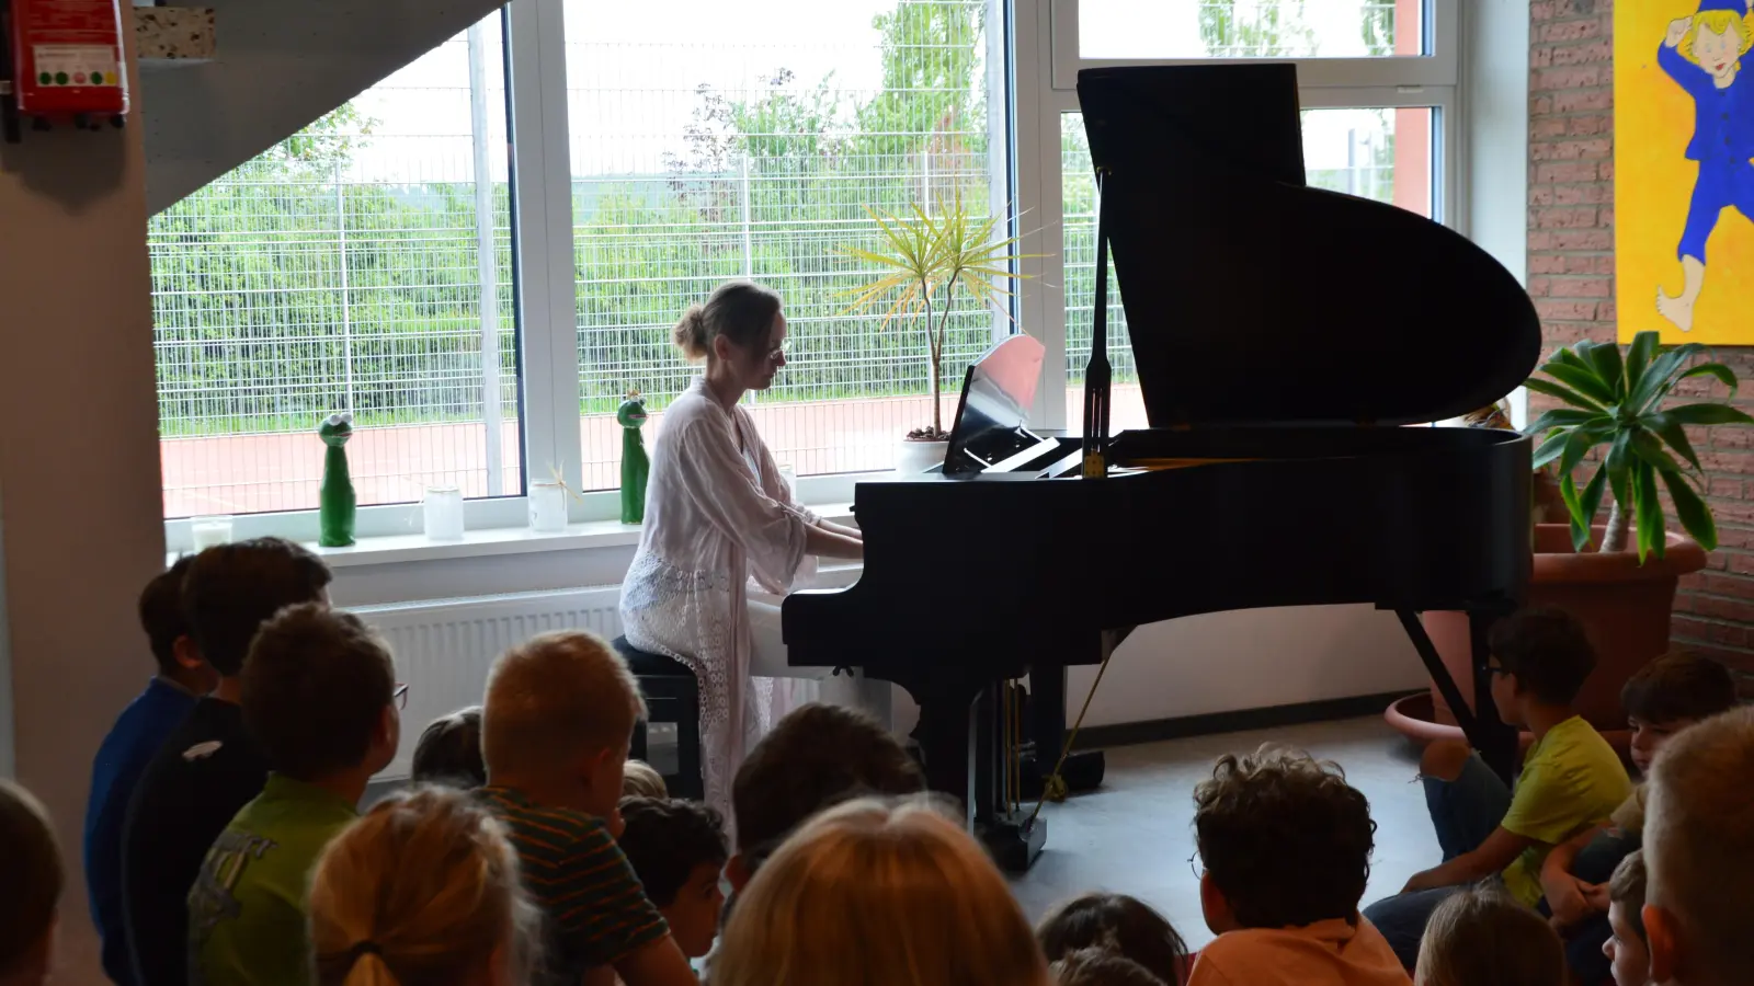
[(1565, 986), (1565, 946), (1547, 919), (1503, 888), (1463, 888), (1438, 904), (1419, 940), (1419, 986)]

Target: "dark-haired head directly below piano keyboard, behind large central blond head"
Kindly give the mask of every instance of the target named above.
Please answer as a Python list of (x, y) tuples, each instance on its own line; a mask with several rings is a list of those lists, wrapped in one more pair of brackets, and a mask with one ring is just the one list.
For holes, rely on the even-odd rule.
[(761, 737), (731, 782), (742, 888), (768, 853), (816, 812), (865, 795), (914, 795), (926, 788), (919, 765), (877, 719), (812, 702), (793, 709)]

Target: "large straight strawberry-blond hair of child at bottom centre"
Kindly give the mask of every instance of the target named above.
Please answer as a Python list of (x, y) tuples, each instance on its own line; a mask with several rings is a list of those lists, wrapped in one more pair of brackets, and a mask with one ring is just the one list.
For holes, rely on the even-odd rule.
[(923, 802), (856, 800), (800, 828), (731, 912), (712, 986), (1047, 986), (986, 851)]

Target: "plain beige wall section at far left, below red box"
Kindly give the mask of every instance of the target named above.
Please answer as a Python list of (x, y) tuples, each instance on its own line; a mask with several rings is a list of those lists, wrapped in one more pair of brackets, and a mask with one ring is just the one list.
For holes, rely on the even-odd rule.
[(54, 814), (67, 861), (56, 981), (102, 982), (86, 784), (153, 674), (133, 605), (165, 551), (140, 130), (0, 144), (0, 705), (16, 777)]

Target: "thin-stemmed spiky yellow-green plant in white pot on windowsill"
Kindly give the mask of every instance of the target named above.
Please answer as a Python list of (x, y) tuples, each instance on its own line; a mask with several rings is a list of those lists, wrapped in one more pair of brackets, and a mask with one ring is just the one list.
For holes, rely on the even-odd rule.
[(958, 193), (928, 212), (917, 204), (912, 216), (866, 209), (877, 223), (879, 249), (845, 247), (845, 253), (882, 274), (849, 291), (847, 312), (888, 305), (882, 326), (898, 316), (926, 333), (926, 372), (931, 386), (931, 423), (912, 428), (896, 453), (896, 472), (916, 474), (944, 461), (951, 433), (944, 428), (944, 340), (961, 289), (984, 307), (1010, 297), (1002, 282), (1026, 277), (1012, 270), (1024, 254), (1010, 253), (1017, 237), (993, 239), (1002, 216), (975, 219)]

